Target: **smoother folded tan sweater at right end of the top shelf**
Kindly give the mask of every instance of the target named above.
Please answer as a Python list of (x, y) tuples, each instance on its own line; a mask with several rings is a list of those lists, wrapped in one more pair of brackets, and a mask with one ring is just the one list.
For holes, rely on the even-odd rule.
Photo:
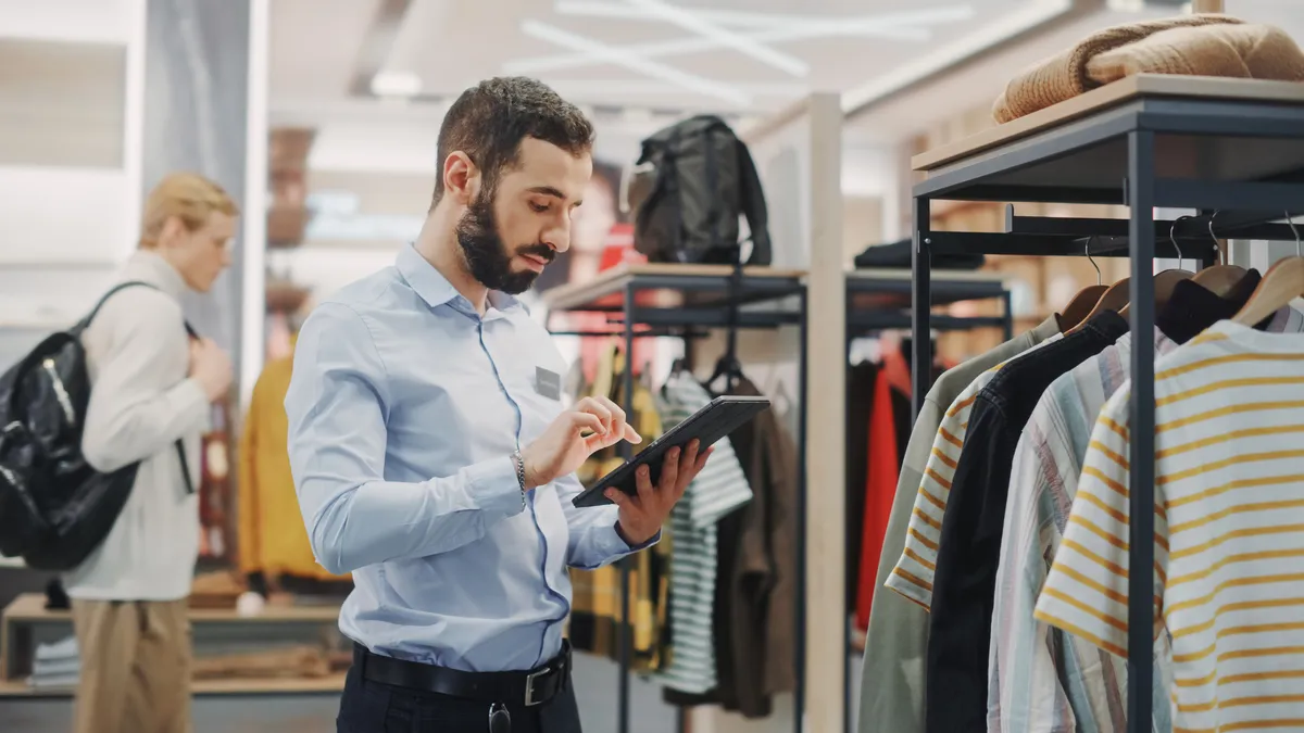
[(1086, 73), (1102, 85), (1142, 73), (1304, 81), (1304, 52), (1274, 26), (1175, 27), (1098, 55)]

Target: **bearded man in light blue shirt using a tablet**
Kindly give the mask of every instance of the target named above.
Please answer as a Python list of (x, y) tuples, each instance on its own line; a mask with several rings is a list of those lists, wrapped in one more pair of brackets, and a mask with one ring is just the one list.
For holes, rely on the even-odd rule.
[(562, 407), (566, 365), (514, 296), (569, 247), (592, 142), (542, 83), (469, 89), (416, 243), (300, 331), (295, 488), (317, 561), (356, 584), (340, 733), (578, 732), (566, 567), (656, 543), (711, 453), (670, 451), (615, 506), (571, 505), (589, 454), (642, 438), (610, 400)]

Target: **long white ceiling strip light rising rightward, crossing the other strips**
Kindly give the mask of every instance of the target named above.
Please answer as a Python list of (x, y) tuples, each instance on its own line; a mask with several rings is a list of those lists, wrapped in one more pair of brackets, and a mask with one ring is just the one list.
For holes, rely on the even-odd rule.
[[(570, 7), (575, 3), (558, 5)], [(609, 3), (589, 3), (591, 5), (610, 5)], [(574, 8), (572, 8), (574, 9)], [(631, 8), (635, 12), (642, 12)], [(724, 13), (717, 10), (715, 13)], [(810, 40), (816, 38), (887, 38), (892, 40), (927, 40), (932, 33), (927, 25), (940, 25), (944, 22), (966, 21), (974, 17), (974, 9), (968, 5), (952, 8), (934, 8), (928, 10), (906, 10), (901, 13), (888, 13), (884, 16), (862, 16), (848, 20), (818, 20), (793, 21), (790, 16), (776, 16), (781, 23), (776, 23), (767, 30), (746, 34), (747, 38), (758, 43), (782, 43), (792, 40)], [(793, 22), (789, 22), (793, 21)], [(675, 38), (670, 40), (657, 40), (623, 47), (631, 55), (643, 59), (662, 59), (683, 53), (698, 53), (720, 48), (720, 43), (711, 38)], [(544, 72), (557, 72), (589, 67), (599, 60), (587, 53), (567, 53), (558, 56), (539, 56), (531, 59), (516, 59), (503, 64), (503, 70), (511, 74), (539, 74)]]

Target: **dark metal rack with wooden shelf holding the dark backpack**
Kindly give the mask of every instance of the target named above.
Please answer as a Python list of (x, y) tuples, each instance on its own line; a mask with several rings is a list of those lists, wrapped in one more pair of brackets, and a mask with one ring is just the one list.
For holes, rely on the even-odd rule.
[[(549, 309), (548, 325), (554, 313), (600, 312), (618, 314), (621, 330), (610, 335), (623, 338), (625, 353), (634, 353), (634, 339), (662, 337), (682, 330), (679, 335), (698, 334), (702, 329), (728, 329), (725, 357), (735, 355), (738, 329), (777, 329), (797, 326), (798, 394), (806, 394), (806, 284), (805, 273), (772, 267), (739, 267), (737, 265), (619, 265), (599, 274), (588, 283), (567, 284), (544, 295)], [(793, 303), (795, 301), (795, 303)], [(743, 307), (752, 307), (743, 310)], [(656, 329), (640, 331), (639, 327)], [(550, 331), (553, 331), (549, 327)], [(565, 330), (553, 331), (567, 333)], [(578, 331), (570, 331), (578, 333)], [(592, 335), (592, 331), (584, 333)], [(632, 412), (634, 369), (626, 364), (622, 408)], [(805, 639), (806, 639), (806, 404), (799, 400), (795, 436), (797, 466), (797, 578), (794, 730), (802, 730), (805, 710)], [(632, 456), (634, 446), (621, 443), (621, 455)], [(630, 567), (621, 571), (621, 639), (619, 687), (617, 696), (618, 733), (630, 730)], [(681, 719), (682, 723), (682, 719)]]

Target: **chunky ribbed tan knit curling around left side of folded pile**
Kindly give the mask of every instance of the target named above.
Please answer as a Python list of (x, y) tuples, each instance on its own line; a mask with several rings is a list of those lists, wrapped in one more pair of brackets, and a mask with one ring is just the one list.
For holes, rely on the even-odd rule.
[(1171, 29), (1240, 22), (1231, 16), (1204, 13), (1107, 27), (1018, 73), (996, 99), (992, 116), (998, 123), (1008, 123), (1101, 86), (1086, 73), (1088, 63), (1101, 53)]

